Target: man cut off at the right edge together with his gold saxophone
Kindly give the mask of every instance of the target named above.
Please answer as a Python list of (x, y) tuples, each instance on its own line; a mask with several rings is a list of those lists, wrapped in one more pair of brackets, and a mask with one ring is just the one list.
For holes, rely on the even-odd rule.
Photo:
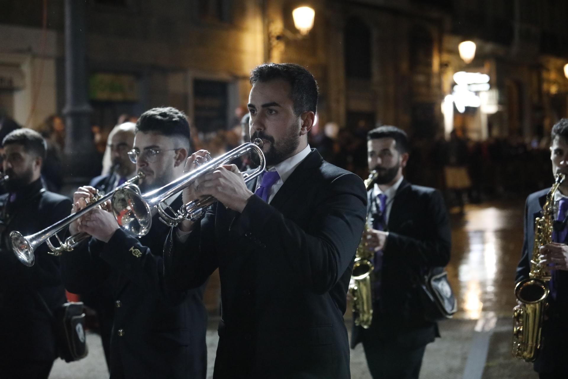
[(525, 205), (523, 253), (516, 274), (519, 306), (515, 309), (513, 346), (513, 355), (534, 361), (534, 370), (542, 379), (566, 377), (568, 119), (553, 126), (550, 140), (555, 183), (552, 188), (529, 195)]

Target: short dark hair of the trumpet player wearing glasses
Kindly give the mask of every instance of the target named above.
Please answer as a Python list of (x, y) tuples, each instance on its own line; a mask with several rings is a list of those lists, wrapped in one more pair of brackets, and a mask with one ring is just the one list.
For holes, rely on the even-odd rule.
[(136, 122), (135, 132), (179, 136), (186, 143), (184, 147), (191, 150), (189, 122), (185, 113), (174, 107), (152, 108), (145, 111)]

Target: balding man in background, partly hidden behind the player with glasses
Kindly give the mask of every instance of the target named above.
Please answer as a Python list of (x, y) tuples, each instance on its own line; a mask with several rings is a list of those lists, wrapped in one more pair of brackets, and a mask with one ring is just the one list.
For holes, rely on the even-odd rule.
[[(106, 165), (110, 166), (110, 172), (93, 178), (89, 184), (91, 187), (102, 193), (109, 193), (136, 175), (136, 164), (128, 157), (128, 152), (134, 144), (135, 130), (136, 124), (133, 122), (125, 122), (112, 128), (108, 134), (107, 149), (103, 158), (103, 171)], [(105, 164), (107, 159), (108, 164)], [(115, 311), (112, 284), (107, 281), (93, 291), (81, 294), (81, 300), (97, 312), (99, 334), (106, 363), (110, 369), (110, 338)]]

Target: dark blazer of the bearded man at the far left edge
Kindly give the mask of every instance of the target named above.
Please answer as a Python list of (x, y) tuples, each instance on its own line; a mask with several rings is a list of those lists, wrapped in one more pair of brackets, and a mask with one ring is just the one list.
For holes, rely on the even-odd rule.
[[(0, 359), (52, 361), (57, 357), (50, 311), (66, 301), (59, 272), (59, 257), (49, 255), (46, 244), (35, 251), (35, 264), (27, 267), (15, 257), (8, 244), (11, 231), (34, 234), (69, 215), (68, 198), (41, 191), (41, 180), (16, 194), (0, 196), (2, 213), (7, 206), (7, 228), (0, 243)], [(0, 377), (3, 377), (0, 373)]]

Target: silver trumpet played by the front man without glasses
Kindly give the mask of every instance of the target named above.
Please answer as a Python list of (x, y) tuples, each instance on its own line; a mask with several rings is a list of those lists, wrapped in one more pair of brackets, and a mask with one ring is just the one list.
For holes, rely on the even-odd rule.
[(149, 191), (145, 194), (141, 194), (138, 186), (132, 184), (117, 189), (111, 201), (111, 208), (116, 217), (116, 221), (118, 221), (118, 224), (124, 230), (141, 237), (146, 235), (152, 226), (153, 207), (156, 207), (160, 214), (160, 220), (169, 226), (176, 226), (184, 219), (198, 220), (207, 207), (216, 201), (214, 197), (206, 196), (195, 199), (182, 205), (179, 211), (174, 211), (171, 207), (166, 205), (174, 216), (170, 216), (166, 213), (164, 207), (161, 207), (160, 204), (167, 198), (191, 185), (200, 176), (214, 172), (220, 165), (226, 164), (245, 154), (256, 152), (260, 159), (260, 165), (258, 165), (256, 170), (252, 173), (245, 176), (245, 182), (253, 180), (266, 168), (266, 161), (261, 147), (262, 140), (257, 138), (253, 142), (242, 144), (215, 159), (208, 157), (205, 163), (199, 164), (196, 161), (195, 164), (198, 165), (198, 167), (194, 170), (166, 184), (162, 188)]

